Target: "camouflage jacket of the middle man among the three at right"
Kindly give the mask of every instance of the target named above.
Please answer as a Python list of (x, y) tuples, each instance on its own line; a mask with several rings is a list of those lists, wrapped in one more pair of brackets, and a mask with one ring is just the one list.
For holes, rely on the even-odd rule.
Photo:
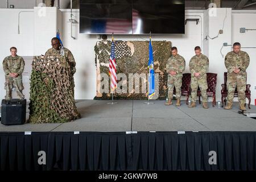
[(194, 76), (194, 73), (200, 73), (200, 77), (206, 77), (207, 71), (209, 68), (209, 59), (207, 56), (201, 53), (200, 56), (193, 56), (189, 61), (189, 69), (191, 71), (191, 77)]

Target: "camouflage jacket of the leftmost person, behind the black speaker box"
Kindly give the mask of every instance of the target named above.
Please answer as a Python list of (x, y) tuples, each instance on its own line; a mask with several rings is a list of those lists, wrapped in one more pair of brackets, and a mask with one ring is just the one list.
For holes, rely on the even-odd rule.
[(3, 71), (5, 72), (5, 76), (8, 76), (9, 73), (18, 73), (18, 77), (22, 76), (22, 72), (24, 70), (25, 62), (20, 56), (7, 56), (3, 60)]

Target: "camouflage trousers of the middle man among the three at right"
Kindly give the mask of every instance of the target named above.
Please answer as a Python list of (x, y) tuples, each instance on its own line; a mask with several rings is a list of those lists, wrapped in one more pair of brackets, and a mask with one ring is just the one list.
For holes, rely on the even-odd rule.
[(198, 86), (201, 90), (201, 95), (202, 95), (202, 98), (203, 98), (203, 102), (207, 102), (208, 84), (207, 84), (206, 75), (202, 76), (200, 78), (197, 78), (195, 76), (191, 76), (191, 101), (192, 102), (196, 102)]

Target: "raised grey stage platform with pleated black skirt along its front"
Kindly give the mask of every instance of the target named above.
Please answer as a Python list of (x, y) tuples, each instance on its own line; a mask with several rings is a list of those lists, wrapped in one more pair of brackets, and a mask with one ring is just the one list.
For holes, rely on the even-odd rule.
[[(164, 101), (107, 102), (77, 101), (82, 118), (73, 122), (1, 124), (0, 169), (256, 169), (256, 119), (238, 114), (237, 103), (224, 110), (189, 109), (184, 102), (180, 107)], [(246, 113), (256, 113), (256, 107)], [(39, 164), (42, 151), (46, 161)]]

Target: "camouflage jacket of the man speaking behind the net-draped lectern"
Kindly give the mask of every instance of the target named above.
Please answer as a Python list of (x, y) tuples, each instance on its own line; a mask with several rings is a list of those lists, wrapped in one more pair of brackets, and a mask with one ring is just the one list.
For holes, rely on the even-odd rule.
[[(49, 57), (49, 56), (61, 56), (60, 55), (60, 50), (56, 50), (55, 48), (49, 48), (46, 51), (46, 54), (44, 55), (44, 57)], [(65, 59), (68, 60), (69, 65), (71, 66), (71, 70), (72, 70), (72, 74), (74, 74), (76, 72), (76, 61), (74, 59), (74, 56), (72, 55), (71, 51), (69, 51), (69, 49), (64, 48), (64, 56)]]

